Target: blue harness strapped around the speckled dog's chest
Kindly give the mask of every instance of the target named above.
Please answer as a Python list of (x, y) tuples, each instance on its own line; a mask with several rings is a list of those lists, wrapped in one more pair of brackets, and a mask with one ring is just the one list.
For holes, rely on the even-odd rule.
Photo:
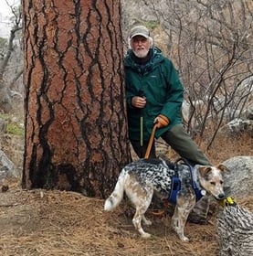
[[(179, 159), (176, 161), (179, 162), (183, 160), (184, 161), (184, 165), (187, 165), (189, 167), (189, 170), (190, 170), (190, 174), (191, 174), (191, 179), (192, 179), (192, 185), (193, 185), (193, 188), (195, 190), (195, 200), (196, 202), (198, 200), (201, 199), (201, 197), (204, 197), (206, 195), (206, 191), (201, 189), (200, 187), (197, 186), (196, 182), (194, 181), (194, 178), (193, 178), (193, 169), (194, 169), (194, 166), (193, 165), (190, 165), (186, 160), (184, 159)], [(178, 176), (178, 170), (177, 170), (177, 166), (175, 164), (174, 166), (174, 171), (175, 171), (175, 175), (172, 177), (172, 189), (171, 189), (171, 193), (168, 197), (168, 201), (172, 204), (176, 204), (176, 197), (177, 197), (177, 193), (178, 191), (180, 191), (181, 189), (181, 180)]]

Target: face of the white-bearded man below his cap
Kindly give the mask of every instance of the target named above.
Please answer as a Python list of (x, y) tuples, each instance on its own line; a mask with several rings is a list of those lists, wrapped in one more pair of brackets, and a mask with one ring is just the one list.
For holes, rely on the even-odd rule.
[(145, 58), (148, 55), (149, 49), (151, 48), (151, 42), (146, 37), (132, 37), (131, 48), (136, 57)]

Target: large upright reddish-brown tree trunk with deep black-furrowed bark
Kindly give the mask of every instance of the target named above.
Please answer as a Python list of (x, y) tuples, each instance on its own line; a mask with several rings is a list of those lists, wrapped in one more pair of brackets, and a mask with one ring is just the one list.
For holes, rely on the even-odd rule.
[(131, 160), (120, 4), (23, 1), (23, 187), (105, 197)]

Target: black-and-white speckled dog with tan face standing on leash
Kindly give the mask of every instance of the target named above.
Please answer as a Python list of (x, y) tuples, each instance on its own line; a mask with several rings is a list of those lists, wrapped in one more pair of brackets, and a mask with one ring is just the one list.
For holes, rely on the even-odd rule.
[(151, 234), (142, 229), (142, 221), (146, 225), (152, 224), (144, 214), (152, 202), (153, 194), (167, 199), (174, 189), (173, 177), (178, 176), (180, 189), (176, 193), (172, 227), (180, 240), (188, 241), (184, 236), (184, 226), (190, 211), (195, 207), (195, 188), (198, 187), (203, 195), (206, 193), (217, 200), (223, 199), (225, 192), (222, 172), (225, 170), (225, 165), (195, 165), (191, 170), (189, 165), (173, 164), (163, 159), (138, 159), (122, 168), (111, 196), (105, 200), (104, 210), (116, 208), (125, 192), (136, 209), (133, 226), (142, 238), (150, 238)]

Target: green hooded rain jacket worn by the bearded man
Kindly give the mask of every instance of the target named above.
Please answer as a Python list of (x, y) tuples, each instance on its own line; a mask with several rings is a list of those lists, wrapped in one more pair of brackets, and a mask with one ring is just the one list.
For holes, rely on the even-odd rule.
[[(143, 117), (143, 141), (149, 141), (153, 129), (153, 120), (160, 113), (170, 123), (156, 129), (155, 137), (160, 137), (174, 124), (182, 123), (181, 107), (184, 89), (171, 60), (165, 58), (158, 48), (152, 48), (152, 57), (145, 65), (138, 65), (132, 60), (132, 49), (124, 58), (126, 101), (129, 126), (129, 138), (140, 140), (140, 118)], [(132, 106), (132, 97), (144, 92), (146, 106), (144, 109)]]

